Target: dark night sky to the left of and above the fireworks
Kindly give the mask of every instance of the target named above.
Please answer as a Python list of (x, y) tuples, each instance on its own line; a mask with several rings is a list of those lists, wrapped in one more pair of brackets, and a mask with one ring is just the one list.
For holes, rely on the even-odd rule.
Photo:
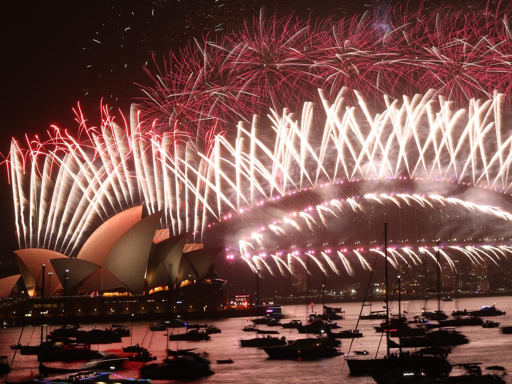
[[(354, 5), (356, 3), (356, 5)], [(44, 132), (50, 124), (72, 132), (77, 102), (93, 122), (104, 102), (124, 111), (142, 96), (135, 83), (150, 80), (142, 66), (187, 44), (193, 37), (241, 28), (244, 19), (266, 14), (300, 17), (343, 16), (390, 2), (369, 1), (16, 1), (2, 9), (3, 119), (0, 153), (7, 154), (11, 137)], [(395, 4), (391, 3), (392, 4)], [(430, 2), (429, 2), (430, 4)], [(459, 4), (459, 3), (455, 3)], [(482, 2), (462, 2), (463, 7)], [(215, 29), (218, 29), (216, 32)], [(13, 260), (11, 187), (6, 168), (0, 176), (0, 260)], [(2, 268), (2, 275), (9, 274)], [(9, 268), (10, 269), (10, 268)]]

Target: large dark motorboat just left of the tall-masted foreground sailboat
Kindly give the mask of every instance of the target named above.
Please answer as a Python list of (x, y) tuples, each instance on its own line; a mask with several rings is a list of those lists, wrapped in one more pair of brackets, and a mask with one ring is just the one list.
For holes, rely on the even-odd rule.
[(265, 347), (271, 359), (314, 359), (339, 356), (340, 352), (321, 338), (302, 338), (284, 346)]

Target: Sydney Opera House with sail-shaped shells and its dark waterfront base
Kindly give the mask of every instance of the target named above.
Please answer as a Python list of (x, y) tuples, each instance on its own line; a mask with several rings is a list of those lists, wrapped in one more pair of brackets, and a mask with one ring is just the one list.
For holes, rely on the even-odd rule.
[(143, 216), (140, 205), (112, 216), (76, 257), (43, 248), (16, 250), (20, 274), (0, 280), (0, 297), (18, 283), (25, 298), (7, 300), (0, 317), (36, 316), (41, 307), (47, 316), (117, 318), (222, 309), (225, 281), (213, 270), (222, 248), (207, 249), (187, 243), (186, 234), (157, 229), (162, 212)]

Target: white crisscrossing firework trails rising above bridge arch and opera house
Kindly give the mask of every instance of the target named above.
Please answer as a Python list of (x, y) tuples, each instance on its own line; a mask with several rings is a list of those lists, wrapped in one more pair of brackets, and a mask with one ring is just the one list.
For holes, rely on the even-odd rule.
[[(55, 130), (46, 142), (37, 139), (27, 149), (13, 141), (8, 160), (19, 244), (76, 252), (98, 221), (137, 204), (148, 212), (165, 210), (163, 227), (201, 241), (208, 221), (230, 220), (265, 201), (359, 179), (456, 181), (510, 190), (512, 137), (501, 137), (497, 124), (501, 94), (472, 100), (467, 110), (453, 110), (442, 99), (436, 104), (430, 95), (403, 97), (375, 115), (362, 98), (359, 108), (347, 106), (344, 93), (330, 103), (321, 92), (323, 108), (317, 111), (307, 103), (300, 118), (272, 111), (273, 135), (259, 119), (250, 127), (240, 123), (233, 139), (212, 138), (209, 154), (186, 132), (146, 132), (147, 123), (135, 109), (122, 129), (106, 108), (99, 129), (81, 123), (90, 140), (80, 142)], [(325, 121), (321, 135), (313, 124), (318, 119)], [(454, 197), (370, 197), (422, 207), (458, 204), (512, 220), (497, 207)], [(346, 203), (362, 210), (353, 199)], [(290, 223), (325, 222), (340, 204), (319, 205), (317, 218), (305, 211)]]

